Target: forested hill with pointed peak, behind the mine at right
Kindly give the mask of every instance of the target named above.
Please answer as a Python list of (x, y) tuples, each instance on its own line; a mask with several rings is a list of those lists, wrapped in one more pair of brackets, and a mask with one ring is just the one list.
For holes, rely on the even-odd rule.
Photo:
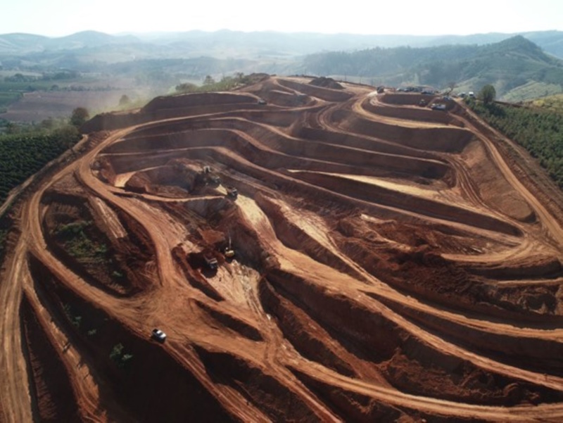
[(563, 61), (518, 35), (495, 44), (397, 47), (316, 53), (303, 61), (305, 73), (362, 76), (374, 84), (416, 84), (477, 91), (493, 84), (500, 98), (532, 99), (563, 91)]

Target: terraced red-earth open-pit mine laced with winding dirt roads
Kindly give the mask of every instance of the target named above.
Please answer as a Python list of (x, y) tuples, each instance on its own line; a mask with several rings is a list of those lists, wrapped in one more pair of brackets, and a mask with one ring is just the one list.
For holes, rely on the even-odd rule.
[(262, 75), (83, 130), (12, 211), (2, 421), (563, 420), (563, 195), (461, 101)]

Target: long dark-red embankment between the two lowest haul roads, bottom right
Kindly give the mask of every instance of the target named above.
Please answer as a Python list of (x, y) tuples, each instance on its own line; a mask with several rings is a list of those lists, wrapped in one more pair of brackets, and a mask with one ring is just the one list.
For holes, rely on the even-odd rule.
[(307, 310), (350, 353), (377, 363), (386, 379), (401, 391), (477, 404), (561, 398), (557, 391), (521, 383), (442, 353), (379, 312), (304, 279), (272, 271), (268, 281), (277, 292)]

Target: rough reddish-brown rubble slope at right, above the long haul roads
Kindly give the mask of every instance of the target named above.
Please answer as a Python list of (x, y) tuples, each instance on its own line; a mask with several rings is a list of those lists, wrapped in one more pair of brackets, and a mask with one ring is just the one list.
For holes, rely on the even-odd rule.
[[(339, 229), (348, 232), (344, 225)], [(370, 241), (334, 234), (334, 239), (350, 259), (365, 263), (367, 272), (422, 301), (504, 320), (547, 323), (555, 317), (555, 293), (533, 293), (524, 287), (512, 292), (502, 289), (444, 260), (424, 239), (410, 248), (386, 246), (381, 236)]]

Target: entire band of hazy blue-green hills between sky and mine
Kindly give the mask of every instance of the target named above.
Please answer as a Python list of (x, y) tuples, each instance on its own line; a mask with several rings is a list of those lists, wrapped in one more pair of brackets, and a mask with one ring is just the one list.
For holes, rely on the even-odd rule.
[[(456, 82), (460, 91), (491, 83), (502, 99), (520, 101), (562, 92), (557, 54), (563, 56), (563, 32), (558, 31), (516, 37), (229, 30), (120, 35), (84, 31), (55, 38), (0, 35), (0, 70), (7, 77), (20, 73), (33, 80), (65, 70), (69, 75), (79, 72), (82, 78), (68, 85), (142, 85), (164, 92), (179, 83), (201, 82), (207, 75), (220, 79), (234, 72), (308, 73), (371, 84), (440, 88)], [(38, 89), (36, 85), (0, 87), (0, 108), (2, 99), (6, 107), (17, 99), (15, 94)]]

